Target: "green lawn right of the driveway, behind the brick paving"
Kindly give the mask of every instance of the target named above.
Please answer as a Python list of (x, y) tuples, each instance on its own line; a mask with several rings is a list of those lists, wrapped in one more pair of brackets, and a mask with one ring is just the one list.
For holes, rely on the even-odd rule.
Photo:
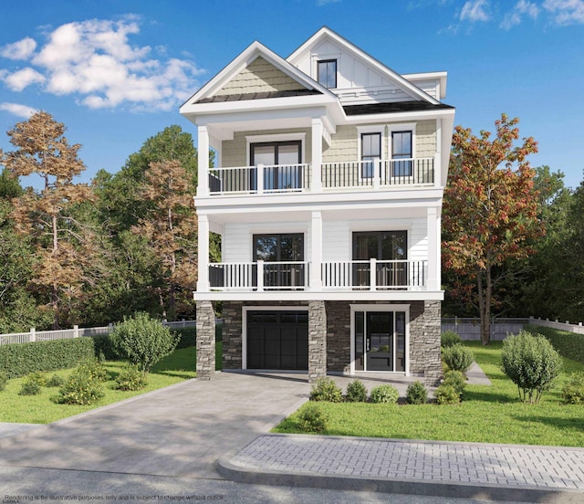
[[(563, 404), (568, 374), (584, 365), (564, 359), (564, 371), (539, 404), (518, 401), (516, 385), (500, 369), (500, 342), (469, 343), (491, 386), (467, 385), (457, 405), (318, 403), (328, 414), (325, 434), (520, 445), (584, 446), (584, 406)], [(304, 406), (303, 406), (304, 407)], [(301, 411), (302, 408), (298, 411)], [(297, 413), (273, 432), (300, 433)]]

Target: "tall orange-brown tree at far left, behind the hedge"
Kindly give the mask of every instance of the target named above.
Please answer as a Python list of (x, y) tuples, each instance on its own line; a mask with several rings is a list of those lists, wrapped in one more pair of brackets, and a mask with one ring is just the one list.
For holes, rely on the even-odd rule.
[(36, 262), (32, 282), (48, 297), (53, 328), (69, 299), (82, 293), (84, 266), (93, 256), (90, 229), (72, 213), (75, 205), (91, 201), (87, 184), (73, 184), (85, 166), (78, 158), (79, 144), (69, 145), (65, 126), (41, 111), (8, 131), (16, 151), (5, 154), (6, 168), (16, 176), (38, 174), (43, 189), (32, 189), (13, 200), (16, 232), (30, 236)]

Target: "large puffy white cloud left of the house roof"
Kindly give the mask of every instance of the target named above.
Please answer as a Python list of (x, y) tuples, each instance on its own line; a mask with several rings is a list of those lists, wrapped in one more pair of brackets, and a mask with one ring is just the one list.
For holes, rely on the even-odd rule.
[(28, 52), (35, 68), (5, 70), (0, 79), (17, 91), (41, 84), (52, 94), (74, 94), (92, 109), (130, 104), (143, 110), (169, 110), (192, 94), (203, 71), (192, 61), (158, 59), (151, 55), (151, 47), (132, 45), (130, 37), (139, 31), (133, 19), (58, 26), (36, 54)]

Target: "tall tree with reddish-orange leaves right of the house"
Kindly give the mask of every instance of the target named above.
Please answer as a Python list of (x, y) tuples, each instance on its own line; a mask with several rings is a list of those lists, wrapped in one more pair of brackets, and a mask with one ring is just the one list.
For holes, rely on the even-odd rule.
[(531, 241), (543, 231), (535, 171), (526, 159), (537, 152), (537, 142), (526, 138), (515, 145), (518, 121), (502, 114), (492, 141), (489, 131), (476, 137), (457, 126), (444, 190), (443, 266), (454, 274), (454, 289), (478, 309), (483, 344), (490, 341), (497, 284), (513, 274), (504, 267), (531, 254)]

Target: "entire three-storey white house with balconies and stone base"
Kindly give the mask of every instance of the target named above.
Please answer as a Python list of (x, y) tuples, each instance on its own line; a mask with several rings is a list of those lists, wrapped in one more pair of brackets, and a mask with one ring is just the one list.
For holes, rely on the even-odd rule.
[(224, 369), (439, 377), (445, 92), (446, 72), (399, 75), (324, 27), (286, 59), (254, 42), (183, 104), (199, 150), (200, 378), (214, 301)]

